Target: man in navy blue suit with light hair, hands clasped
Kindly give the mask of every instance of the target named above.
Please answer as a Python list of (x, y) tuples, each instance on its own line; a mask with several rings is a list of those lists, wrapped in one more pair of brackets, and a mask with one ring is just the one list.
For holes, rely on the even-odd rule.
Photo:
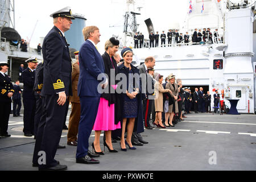
[(104, 76), (104, 85), (98, 76), (105, 72), (104, 61), (98, 52), (96, 44), (100, 42), (100, 31), (96, 26), (85, 27), (82, 30), (85, 43), (79, 51), (80, 77), (77, 94), (80, 97), (81, 117), (77, 141), (76, 163), (98, 164), (88, 155), (89, 137), (97, 116), (101, 94), (98, 86), (102, 88), (108, 85), (108, 79)]

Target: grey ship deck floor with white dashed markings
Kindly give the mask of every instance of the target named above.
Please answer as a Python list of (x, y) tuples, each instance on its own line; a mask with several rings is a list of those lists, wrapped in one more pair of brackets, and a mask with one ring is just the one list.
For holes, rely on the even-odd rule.
[[(10, 115), (11, 137), (0, 139), (1, 171), (38, 170), (32, 167), (34, 137), (24, 137), (22, 129), (23, 117)], [(93, 135), (94, 132), (89, 144)], [(175, 127), (145, 129), (142, 136), (149, 144), (123, 152), (119, 143), (113, 143), (117, 154), (106, 151), (98, 158), (100, 164), (88, 165), (75, 162), (76, 147), (67, 146), (67, 130), (63, 130), (60, 144), (66, 148), (58, 149), (55, 159), (70, 171), (256, 170), (256, 115), (253, 114), (188, 114)]]

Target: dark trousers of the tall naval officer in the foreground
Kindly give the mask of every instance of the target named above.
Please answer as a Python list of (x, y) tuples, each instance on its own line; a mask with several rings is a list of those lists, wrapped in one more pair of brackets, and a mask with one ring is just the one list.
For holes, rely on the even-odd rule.
[(46, 154), (46, 164), (40, 164), (39, 168), (57, 166), (54, 159), (62, 133), (63, 119), (67, 102), (60, 106), (57, 104), (59, 95), (46, 95), (42, 97), (43, 111), (36, 134), (33, 163), (38, 162), (38, 152)]

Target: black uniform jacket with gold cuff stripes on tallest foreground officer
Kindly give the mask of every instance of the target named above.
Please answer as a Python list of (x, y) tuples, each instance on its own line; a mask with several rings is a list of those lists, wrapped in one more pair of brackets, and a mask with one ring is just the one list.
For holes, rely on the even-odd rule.
[(44, 38), (42, 51), (44, 59), (42, 96), (63, 91), (67, 96), (72, 96), (71, 56), (68, 43), (57, 27), (54, 26)]

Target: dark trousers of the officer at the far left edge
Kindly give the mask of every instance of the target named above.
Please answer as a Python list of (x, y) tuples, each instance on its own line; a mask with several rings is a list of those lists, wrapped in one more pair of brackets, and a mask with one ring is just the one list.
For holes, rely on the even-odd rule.
[(0, 101), (0, 131), (1, 135), (6, 135), (8, 130), (8, 122), (11, 113), (11, 100), (8, 102)]

